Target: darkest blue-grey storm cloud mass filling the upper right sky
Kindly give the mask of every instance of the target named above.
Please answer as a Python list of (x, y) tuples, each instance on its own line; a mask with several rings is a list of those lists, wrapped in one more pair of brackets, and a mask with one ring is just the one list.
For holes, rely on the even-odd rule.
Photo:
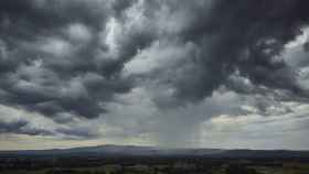
[(214, 2), (207, 15), (203, 15), (204, 8), (195, 8), (196, 18), (179, 36), (195, 43), (200, 53), (190, 57), (194, 61), (191, 74), (175, 79), (175, 96), (203, 99), (238, 72), (254, 86), (309, 97), (297, 84), (295, 69), (279, 58), (285, 44), (308, 24), (307, 6), (301, 0), (221, 0)]

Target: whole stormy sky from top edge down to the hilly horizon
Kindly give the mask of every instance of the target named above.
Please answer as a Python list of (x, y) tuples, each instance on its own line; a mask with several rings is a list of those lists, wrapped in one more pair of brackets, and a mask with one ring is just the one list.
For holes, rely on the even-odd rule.
[(308, 7), (1, 0), (0, 150), (309, 150)]

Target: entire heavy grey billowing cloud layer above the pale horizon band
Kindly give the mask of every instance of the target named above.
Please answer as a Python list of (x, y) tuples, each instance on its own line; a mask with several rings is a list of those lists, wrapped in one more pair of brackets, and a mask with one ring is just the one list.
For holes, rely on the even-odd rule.
[[(307, 104), (308, 6), (306, 0), (2, 0), (0, 104), (62, 123), (67, 115), (105, 117), (117, 96), (137, 88), (151, 90), (158, 110), (198, 105), (222, 88), (259, 96), (256, 107), (264, 115), (275, 102)], [(0, 132), (36, 134), (21, 129), (24, 121), (2, 122)]]

